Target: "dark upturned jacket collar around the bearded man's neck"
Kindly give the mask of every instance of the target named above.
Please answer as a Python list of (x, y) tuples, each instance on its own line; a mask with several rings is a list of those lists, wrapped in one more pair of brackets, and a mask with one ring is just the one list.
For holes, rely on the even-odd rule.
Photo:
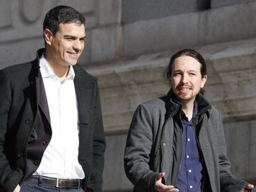
[[(173, 93), (173, 90), (170, 89), (168, 94), (168, 107), (166, 109), (168, 115), (174, 116), (177, 112), (180, 112), (182, 109), (182, 103), (177, 99), (176, 95)], [(198, 106), (198, 113), (201, 114), (202, 112), (207, 112), (207, 115), (211, 114), (211, 105), (207, 101), (207, 99), (203, 96), (202, 93), (198, 93), (195, 101), (197, 101)]]

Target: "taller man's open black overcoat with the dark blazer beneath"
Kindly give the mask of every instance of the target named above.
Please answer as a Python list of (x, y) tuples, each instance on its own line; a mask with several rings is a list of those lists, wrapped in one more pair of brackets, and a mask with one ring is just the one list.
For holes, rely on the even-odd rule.
[[(0, 191), (13, 191), (40, 165), (51, 140), (51, 124), (39, 58), (0, 70)], [(79, 112), (79, 163), (83, 189), (101, 191), (106, 148), (98, 83), (74, 65)]]

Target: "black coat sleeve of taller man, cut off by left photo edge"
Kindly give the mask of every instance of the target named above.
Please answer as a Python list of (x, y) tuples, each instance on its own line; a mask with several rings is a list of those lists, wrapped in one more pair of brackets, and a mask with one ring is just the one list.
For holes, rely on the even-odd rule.
[(11, 85), (7, 73), (0, 70), (0, 191), (3, 192), (13, 191), (22, 178), (22, 173), (11, 168), (5, 154), (11, 95)]

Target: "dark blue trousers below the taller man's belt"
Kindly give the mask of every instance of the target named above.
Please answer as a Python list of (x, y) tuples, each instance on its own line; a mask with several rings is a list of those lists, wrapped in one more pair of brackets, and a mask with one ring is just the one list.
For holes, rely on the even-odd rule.
[(82, 188), (56, 188), (55, 186), (22, 183), (20, 192), (84, 192)]

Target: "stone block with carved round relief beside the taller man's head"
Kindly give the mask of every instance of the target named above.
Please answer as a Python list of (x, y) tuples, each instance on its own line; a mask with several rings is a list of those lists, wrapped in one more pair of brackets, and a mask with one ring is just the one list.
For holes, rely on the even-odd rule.
[[(6, 7), (2, 5), (0, 7)], [(19, 1), (11, 4), (11, 27), (1, 28), (0, 43), (39, 38), (43, 36), (43, 20), (46, 12), (55, 6), (54, 1)], [(7, 14), (8, 15), (8, 14)], [(5, 17), (4, 17), (5, 18)]]

